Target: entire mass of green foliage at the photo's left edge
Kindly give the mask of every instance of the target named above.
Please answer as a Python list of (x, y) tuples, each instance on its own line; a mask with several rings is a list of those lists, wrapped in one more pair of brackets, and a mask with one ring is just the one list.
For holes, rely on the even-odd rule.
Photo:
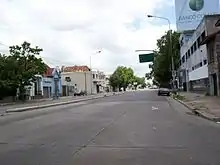
[(36, 80), (35, 75), (46, 71), (46, 65), (37, 57), (42, 49), (32, 48), (30, 43), (24, 42), (9, 50), (8, 56), (0, 55), (0, 91), (4, 91), (0, 97), (14, 96), (17, 89), (24, 94), (25, 86)]

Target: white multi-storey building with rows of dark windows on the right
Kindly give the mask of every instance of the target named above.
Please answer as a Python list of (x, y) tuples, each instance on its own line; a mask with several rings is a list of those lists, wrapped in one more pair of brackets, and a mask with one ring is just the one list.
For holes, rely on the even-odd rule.
[(201, 45), (206, 36), (216, 31), (213, 22), (219, 15), (205, 16), (195, 31), (180, 37), (179, 84), (185, 91), (208, 91), (209, 74), (207, 46)]

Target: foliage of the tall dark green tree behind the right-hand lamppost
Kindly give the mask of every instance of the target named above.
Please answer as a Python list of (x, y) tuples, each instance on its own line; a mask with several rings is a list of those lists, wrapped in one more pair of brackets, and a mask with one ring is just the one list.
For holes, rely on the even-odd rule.
[[(170, 54), (170, 33), (172, 36), (172, 55)], [(179, 33), (169, 31), (157, 40), (157, 50), (155, 51), (155, 59), (151, 65), (151, 72), (146, 73), (147, 79), (154, 79), (154, 84), (168, 84), (172, 79), (171, 57), (174, 59), (175, 69), (178, 67), (179, 61)]]

